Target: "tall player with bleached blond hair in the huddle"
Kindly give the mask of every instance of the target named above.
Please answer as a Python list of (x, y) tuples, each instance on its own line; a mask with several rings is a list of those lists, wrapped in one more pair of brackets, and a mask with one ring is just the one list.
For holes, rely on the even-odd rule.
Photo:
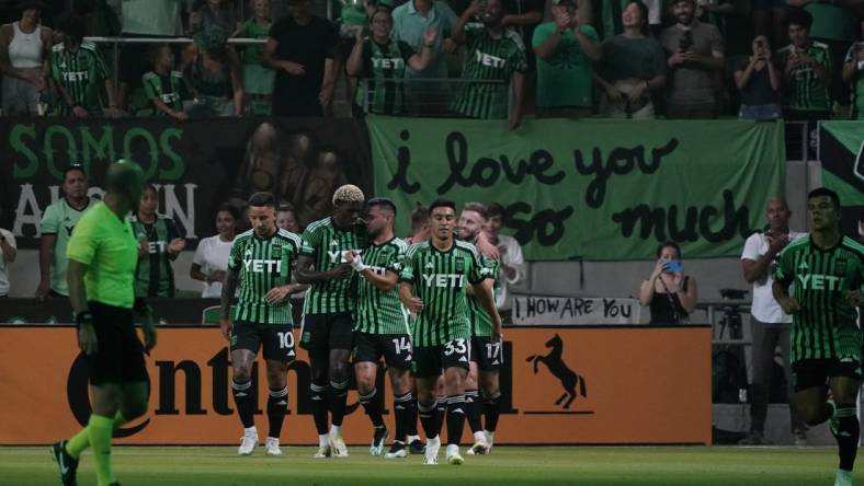
[[(356, 281), (345, 252), (366, 246), (366, 228), (361, 219), (364, 200), (360, 187), (340, 186), (333, 193), (332, 216), (312, 222), (303, 233), (297, 281), (311, 288), (304, 302), (300, 346), (309, 351), (312, 418), (318, 430), (316, 459), (348, 456), (342, 419), (354, 344), (351, 314), (356, 304)], [(332, 414), (329, 433), (328, 402)]]

